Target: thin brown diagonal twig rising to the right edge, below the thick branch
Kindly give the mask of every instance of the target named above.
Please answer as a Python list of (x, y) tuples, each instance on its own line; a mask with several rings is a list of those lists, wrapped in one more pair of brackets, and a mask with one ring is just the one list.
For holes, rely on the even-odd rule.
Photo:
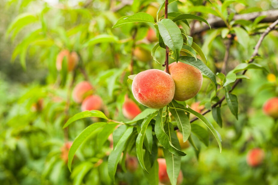
[[(251, 56), (251, 58), (249, 59), (248, 63), (252, 63), (255, 60), (255, 56), (259, 56), (258, 52), (259, 52), (259, 48), (261, 46), (262, 41), (264, 40), (265, 36), (272, 30), (274, 30), (276, 27), (276, 25), (278, 25), (278, 19), (272, 23), (270, 26), (267, 27), (267, 29), (263, 32), (263, 34), (261, 35), (261, 37), (259, 38), (255, 48), (254, 48), (254, 52)], [(242, 75), (244, 75), (246, 73), (247, 69), (244, 70), (242, 72)], [(229, 93), (231, 93), (233, 91), (233, 89), (239, 84), (239, 82), (241, 82), (242, 79), (237, 79), (236, 82), (233, 84), (231, 90), (229, 91)], [(218, 102), (216, 102), (215, 104), (212, 105), (212, 108), (215, 108), (216, 106), (221, 106), (221, 103), (224, 101), (225, 96), (223, 96)], [(207, 114), (208, 112), (210, 112), (211, 110), (207, 110), (205, 112), (202, 113), (202, 115)], [(198, 120), (197, 117), (194, 117), (192, 120), (190, 120), (190, 123), (194, 122), (195, 120)], [(175, 127), (175, 130), (178, 130), (178, 127)]]

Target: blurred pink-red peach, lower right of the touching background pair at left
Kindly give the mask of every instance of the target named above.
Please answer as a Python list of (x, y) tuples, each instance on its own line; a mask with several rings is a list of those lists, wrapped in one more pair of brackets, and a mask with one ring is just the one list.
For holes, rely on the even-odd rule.
[(102, 99), (100, 96), (92, 95), (85, 98), (81, 105), (82, 111), (91, 111), (91, 110), (101, 110), (102, 109)]

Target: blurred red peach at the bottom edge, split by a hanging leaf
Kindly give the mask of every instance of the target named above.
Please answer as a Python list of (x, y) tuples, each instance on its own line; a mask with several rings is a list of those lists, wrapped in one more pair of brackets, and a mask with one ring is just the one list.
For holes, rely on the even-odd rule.
[[(162, 184), (171, 184), (170, 183), (170, 179), (169, 179), (168, 174), (167, 174), (165, 159), (158, 158), (157, 162), (158, 162), (158, 177), (159, 177), (159, 182), (161, 182)], [(180, 171), (180, 173), (178, 175), (178, 179), (177, 179), (177, 184), (178, 185), (182, 183), (183, 178), (184, 178), (183, 174)]]

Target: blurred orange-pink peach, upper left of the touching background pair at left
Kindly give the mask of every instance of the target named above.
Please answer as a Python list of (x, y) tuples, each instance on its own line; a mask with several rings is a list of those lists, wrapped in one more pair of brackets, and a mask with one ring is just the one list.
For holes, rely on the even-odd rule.
[(88, 93), (93, 91), (93, 86), (87, 81), (82, 81), (78, 83), (73, 89), (73, 101), (76, 103), (81, 103)]

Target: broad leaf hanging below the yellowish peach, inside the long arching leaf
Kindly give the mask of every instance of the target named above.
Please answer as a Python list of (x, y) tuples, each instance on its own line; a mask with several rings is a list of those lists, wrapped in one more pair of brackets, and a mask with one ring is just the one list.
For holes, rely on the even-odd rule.
[[(170, 105), (171, 105), (171, 107), (181, 106), (175, 100), (172, 100), (172, 102), (170, 102)], [(184, 113), (184, 111), (170, 108), (170, 112), (175, 117), (177, 126), (183, 135), (183, 141), (185, 142), (191, 133), (190, 121), (189, 121), (187, 115)]]

